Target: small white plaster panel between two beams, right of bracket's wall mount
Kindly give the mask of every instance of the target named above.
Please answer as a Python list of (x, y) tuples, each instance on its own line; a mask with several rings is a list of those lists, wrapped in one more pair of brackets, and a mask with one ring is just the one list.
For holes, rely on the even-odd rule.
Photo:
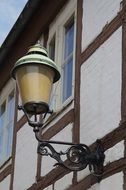
[(104, 165), (119, 160), (124, 157), (124, 141), (117, 143), (112, 148), (105, 151), (105, 162)]

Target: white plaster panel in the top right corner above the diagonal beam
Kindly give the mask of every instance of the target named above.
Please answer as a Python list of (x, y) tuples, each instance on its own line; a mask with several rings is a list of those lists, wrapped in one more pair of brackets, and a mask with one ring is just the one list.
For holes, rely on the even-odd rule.
[(83, 0), (82, 50), (121, 9), (121, 0)]

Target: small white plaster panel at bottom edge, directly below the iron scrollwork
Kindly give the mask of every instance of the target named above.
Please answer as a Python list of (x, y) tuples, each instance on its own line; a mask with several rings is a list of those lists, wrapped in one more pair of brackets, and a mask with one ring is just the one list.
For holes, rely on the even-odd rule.
[(67, 189), (70, 185), (72, 185), (72, 179), (73, 179), (73, 172), (71, 172), (68, 175), (65, 175), (60, 180), (56, 181), (56, 183), (54, 184), (54, 189), (55, 190)]

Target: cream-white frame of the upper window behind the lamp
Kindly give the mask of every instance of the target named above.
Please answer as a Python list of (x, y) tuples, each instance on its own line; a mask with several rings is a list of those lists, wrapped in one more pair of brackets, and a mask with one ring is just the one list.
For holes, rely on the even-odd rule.
[[(77, 0), (70, 0), (68, 4), (61, 10), (55, 20), (49, 27), (49, 38), (47, 41), (47, 49), (49, 50), (49, 44), (55, 36), (55, 62), (61, 73), (63, 56), (64, 56), (64, 37), (65, 27), (71, 19), (74, 21), (74, 49), (73, 49), (73, 73), (72, 73), (72, 95), (62, 103), (62, 77), (60, 81), (54, 84), (55, 92), (55, 107), (54, 110), (60, 110), (67, 106), (71, 100), (74, 99), (74, 83), (75, 83), (75, 43), (76, 43), (76, 12), (77, 12)], [(62, 73), (61, 73), (62, 75)]]

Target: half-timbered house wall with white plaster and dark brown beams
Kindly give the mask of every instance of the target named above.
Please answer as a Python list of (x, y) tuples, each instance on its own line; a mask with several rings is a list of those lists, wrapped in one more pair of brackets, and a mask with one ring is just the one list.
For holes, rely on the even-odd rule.
[[(97, 178), (88, 168), (80, 172), (54, 168), (53, 159), (37, 155), (32, 128), (17, 111), (12, 157), (0, 167), (0, 190), (126, 190), (126, 1), (75, 0), (77, 7), (72, 2), (63, 2), (64, 7), (47, 20), (49, 27), (38, 31), (39, 36), (33, 35), (35, 39), (42, 36), (48, 48), (60, 15), (63, 19), (67, 17), (64, 14), (69, 17), (76, 12), (73, 96), (67, 104), (56, 106), (60, 109), (48, 118), (42, 137), (80, 141), (91, 148), (101, 139), (106, 156), (104, 173)], [(59, 40), (61, 36), (56, 37)], [(55, 145), (57, 151), (61, 147)], [(65, 149), (67, 146), (62, 151)]]

